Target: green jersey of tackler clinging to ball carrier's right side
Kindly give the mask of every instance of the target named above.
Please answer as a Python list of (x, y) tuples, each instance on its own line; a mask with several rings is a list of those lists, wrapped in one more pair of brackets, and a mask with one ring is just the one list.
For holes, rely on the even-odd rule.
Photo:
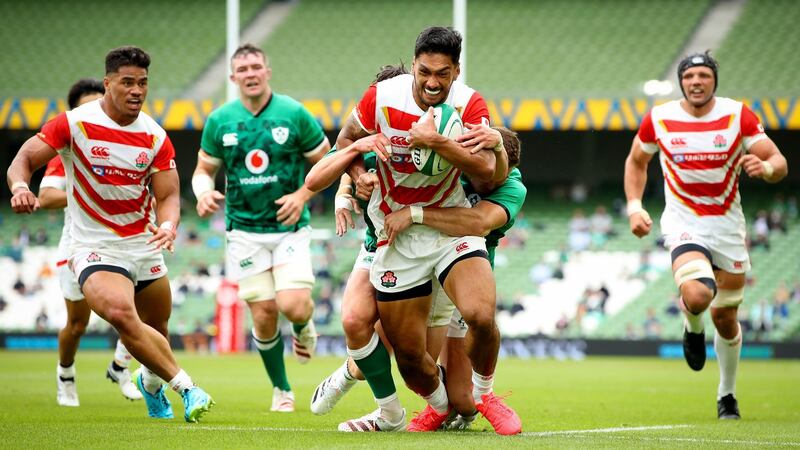
[(467, 194), (467, 199), (469, 199), (472, 206), (475, 206), (481, 200), (486, 200), (506, 210), (508, 222), (502, 227), (492, 230), (486, 236), (486, 250), (489, 252), (489, 262), (494, 267), (495, 249), (500, 239), (506, 235), (506, 231), (514, 226), (517, 214), (522, 209), (522, 204), (525, 203), (525, 196), (528, 194), (528, 189), (522, 184), (522, 174), (519, 169), (514, 168), (500, 187), (484, 197), (475, 192), (475, 188), (472, 187), (465, 176), (461, 177), (461, 185), (464, 187), (464, 192)]

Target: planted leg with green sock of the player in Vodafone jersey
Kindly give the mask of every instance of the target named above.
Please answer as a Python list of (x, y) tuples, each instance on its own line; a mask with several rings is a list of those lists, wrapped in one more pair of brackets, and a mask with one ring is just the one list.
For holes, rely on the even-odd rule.
[(253, 342), (273, 386), (270, 410), (293, 412), (294, 393), (286, 376), (283, 336), (278, 328), (278, 305), (273, 299), (252, 301), (247, 306), (253, 317)]

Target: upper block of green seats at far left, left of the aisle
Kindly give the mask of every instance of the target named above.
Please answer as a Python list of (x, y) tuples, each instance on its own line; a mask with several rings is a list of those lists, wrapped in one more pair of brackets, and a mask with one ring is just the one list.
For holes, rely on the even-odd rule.
[[(242, 26), (266, 0), (240, 0)], [(0, 2), (0, 97), (66, 97), (79, 78), (103, 76), (109, 49), (137, 45), (152, 56), (152, 97), (179, 97), (225, 49), (225, 2), (144, 0)], [(31, 32), (35, 27), (36, 31)]]

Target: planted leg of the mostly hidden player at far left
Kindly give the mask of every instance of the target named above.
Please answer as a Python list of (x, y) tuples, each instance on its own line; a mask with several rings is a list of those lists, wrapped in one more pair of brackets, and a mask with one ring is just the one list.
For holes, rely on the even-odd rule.
[(58, 367), (56, 369), (56, 401), (61, 406), (78, 406), (75, 384), (75, 354), (81, 336), (86, 332), (92, 310), (85, 301), (64, 299), (67, 306), (67, 324), (58, 332)]

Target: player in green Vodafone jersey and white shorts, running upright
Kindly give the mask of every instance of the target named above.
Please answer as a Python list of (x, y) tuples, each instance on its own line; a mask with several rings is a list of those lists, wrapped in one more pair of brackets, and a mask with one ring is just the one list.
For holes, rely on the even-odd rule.
[[(192, 188), (200, 217), (225, 200), (226, 273), (253, 317), (253, 343), (273, 385), (270, 410), (292, 412), (278, 314), (292, 322), (297, 360), (308, 362), (317, 345), (306, 206), (314, 193), (303, 187), (303, 176), (306, 161), (315, 164), (330, 144), (302, 104), (272, 91), (272, 69), (260, 48), (239, 47), (231, 70), (239, 99), (209, 115)], [(223, 165), (225, 195), (214, 183)]]

